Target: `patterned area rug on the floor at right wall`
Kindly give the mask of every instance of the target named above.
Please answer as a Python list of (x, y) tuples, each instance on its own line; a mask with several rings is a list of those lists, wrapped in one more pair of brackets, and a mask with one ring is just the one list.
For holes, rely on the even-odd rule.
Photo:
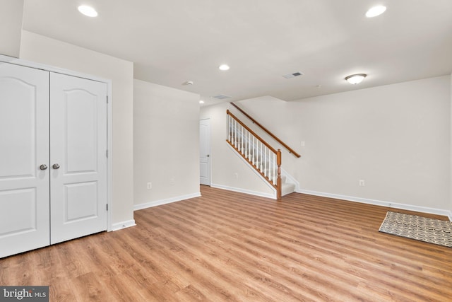
[(452, 223), (388, 211), (380, 232), (452, 248)]

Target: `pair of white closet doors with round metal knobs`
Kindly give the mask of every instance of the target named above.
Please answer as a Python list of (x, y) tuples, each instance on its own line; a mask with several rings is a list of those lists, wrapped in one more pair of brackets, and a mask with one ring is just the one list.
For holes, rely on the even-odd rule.
[(0, 257), (107, 229), (107, 84), (0, 62)]

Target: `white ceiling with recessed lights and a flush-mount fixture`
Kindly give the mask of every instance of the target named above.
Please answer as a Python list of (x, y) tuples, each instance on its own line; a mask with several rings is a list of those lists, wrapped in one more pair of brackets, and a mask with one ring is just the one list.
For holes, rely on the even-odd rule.
[[(81, 4), (99, 16), (81, 15)], [(376, 4), (386, 12), (366, 18)], [(25, 0), (23, 29), (131, 61), (135, 79), (206, 105), (220, 94), (298, 100), (452, 72), (451, 0)], [(357, 73), (368, 76), (345, 81)]]

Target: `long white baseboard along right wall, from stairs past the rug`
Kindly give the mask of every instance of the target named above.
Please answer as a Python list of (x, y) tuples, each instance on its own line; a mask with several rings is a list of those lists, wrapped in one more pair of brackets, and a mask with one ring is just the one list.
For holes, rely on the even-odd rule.
[(329, 197), (329, 198), (335, 198), (335, 199), (343, 199), (343, 200), (347, 200), (349, 202), (360, 202), (362, 204), (374, 204), (376, 206), (389, 207), (389, 208), (394, 208), (394, 209), (404, 209), (404, 210), (408, 210), (408, 211), (419, 211), (422, 213), (437, 214), (437, 215), (442, 215), (442, 216), (448, 216), (448, 219), (450, 221), (452, 221), (452, 211), (448, 211), (448, 210), (444, 210), (444, 209), (420, 207), (420, 206), (415, 206), (412, 204), (399, 204), (396, 202), (385, 202), (385, 201), (376, 200), (376, 199), (352, 197), (352, 196), (331, 194), (331, 193), (324, 193), (324, 192), (316, 192), (316, 191), (310, 191), (310, 190), (297, 190), (297, 193), (309, 194), (309, 195), (321, 196), (321, 197)]

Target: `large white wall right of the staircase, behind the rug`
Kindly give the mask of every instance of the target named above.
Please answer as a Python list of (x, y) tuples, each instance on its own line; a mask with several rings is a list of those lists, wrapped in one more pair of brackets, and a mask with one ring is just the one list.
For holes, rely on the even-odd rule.
[(283, 168), (303, 192), (451, 209), (450, 76), (237, 104), (302, 154), (284, 152)]

